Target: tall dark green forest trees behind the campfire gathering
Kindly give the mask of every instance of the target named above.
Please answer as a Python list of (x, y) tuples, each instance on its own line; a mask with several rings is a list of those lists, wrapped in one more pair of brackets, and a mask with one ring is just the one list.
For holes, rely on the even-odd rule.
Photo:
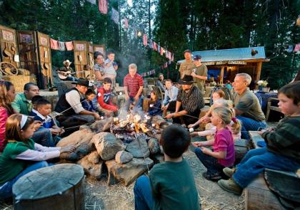
[[(149, 2), (151, 9), (149, 16)], [(143, 46), (136, 29), (146, 33), (160, 46), (183, 59), (183, 51), (265, 46), (271, 61), (262, 66), (261, 79), (272, 88), (289, 83), (299, 69), (299, 53), (288, 53), (289, 45), (300, 43), (300, 1), (293, 0), (126, 0), (109, 1), (118, 9), (121, 19), (129, 19), (129, 29), (99, 13), (98, 5), (86, 0), (2, 0), (0, 24), (17, 30), (36, 30), (59, 41), (91, 41), (104, 44), (116, 52), (119, 62), (119, 83), (129, 63), (137, 63), (139, 73), (153, 68), (157, 73), (176, 80), (174, 63), (161, 70), (167, 59)], [(151, 24), (149, 26), (149, 22)], [(135, 26), (136, 28), (133, 28)], [(121, 30), (121, 31), (120, 31)], [(52, 51), (52, 61), (59, 66), (72, 52)]]

